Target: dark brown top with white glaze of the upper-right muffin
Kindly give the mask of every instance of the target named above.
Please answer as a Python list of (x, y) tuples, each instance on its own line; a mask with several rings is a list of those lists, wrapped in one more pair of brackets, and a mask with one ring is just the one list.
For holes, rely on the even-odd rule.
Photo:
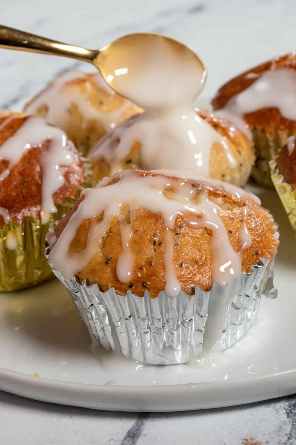
[(234, 120), (250, 136), (246, 124), (296, 128), (295, 97), (296, 52), (292, 52), (234, 77), (221, 86), (212, 105), (218, 116)]

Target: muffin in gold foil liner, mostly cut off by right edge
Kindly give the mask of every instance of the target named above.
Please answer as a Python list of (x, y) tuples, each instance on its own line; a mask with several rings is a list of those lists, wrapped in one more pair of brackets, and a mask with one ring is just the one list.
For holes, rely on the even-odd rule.
[(270, 161), (271, 179), (296, 235), (296, 137), (290, 136), (279, 156)]

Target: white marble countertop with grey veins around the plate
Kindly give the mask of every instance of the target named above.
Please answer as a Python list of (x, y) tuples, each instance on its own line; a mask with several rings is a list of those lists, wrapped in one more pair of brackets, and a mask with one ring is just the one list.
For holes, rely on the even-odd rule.
[[(203, 92), (242, 70), (295, 49), (295, 0), (11, 0), (1, 22), (55, 40), (100, 48), (137, 31), (161, 32), (197, 51), (208, 69)], [(71, 59), (0, 50), (0, 109), (21, 110)], [(296, 397), (183, 413), (112, 413), (0, 392), (5, 444), (294, 444)]]

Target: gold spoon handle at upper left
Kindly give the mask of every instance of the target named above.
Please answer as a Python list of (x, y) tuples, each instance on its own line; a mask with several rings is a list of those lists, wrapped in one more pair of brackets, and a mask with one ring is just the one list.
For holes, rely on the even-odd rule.
[(36, 36), (35, 34), (8, 28), (8, 26), (3, 25), (0, 25), (0, 48), (73, 57), (91, 63), (99, 53), (99, 51), (57, 42), (47, 39), (47, 37)]

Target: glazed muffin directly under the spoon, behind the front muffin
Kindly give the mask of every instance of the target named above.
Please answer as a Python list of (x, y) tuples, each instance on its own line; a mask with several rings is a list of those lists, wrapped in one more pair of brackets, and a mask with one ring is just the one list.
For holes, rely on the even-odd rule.
[[(144, 118), (146, 113), (128, 119), (89, 153), (95, 182), (119, 170), (171, 168), (207, 174), (214, 179), (244, 186), (255, 161), (252, 142), (228, 121), (218, 119), (206, 110), (196, 108), (195, 113), (192, 128), (196, 134), (193, 138), (199, 137), (199, 144), (187, 143), (188, 129), (182, 128), (181, 119), (174, 123), (173, 117), (173, 125), (170, 119), (159, 119), (160, 123), (149, 121), (149, 117)], [(176, 127), (179, 134), (174, 135), (172, 128)]]

